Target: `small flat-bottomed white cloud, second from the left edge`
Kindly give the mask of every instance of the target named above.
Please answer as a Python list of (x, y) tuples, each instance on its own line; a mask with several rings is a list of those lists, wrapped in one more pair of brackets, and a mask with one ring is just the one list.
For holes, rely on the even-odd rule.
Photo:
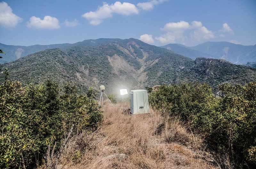
[(51, 16), (45, 16), (44, 19), (32, 16), (27, 22), (27, 27), (37, 29), (59, 29), (59, 20)]

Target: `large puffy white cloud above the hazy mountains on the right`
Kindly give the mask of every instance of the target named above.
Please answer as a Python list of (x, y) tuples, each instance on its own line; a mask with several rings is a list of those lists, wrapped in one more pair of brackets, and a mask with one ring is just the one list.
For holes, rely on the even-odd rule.
[(189, 24), (186, 21), (170, 22), (165, 24), (161, 30), (167, 32), (156, 40), (161, 43), (182, 43), (184, 42), (200, 42), (202, 40), (209, 40), (215, 38), (212, 31), (203, 26), (200, 21), (193, 21)]

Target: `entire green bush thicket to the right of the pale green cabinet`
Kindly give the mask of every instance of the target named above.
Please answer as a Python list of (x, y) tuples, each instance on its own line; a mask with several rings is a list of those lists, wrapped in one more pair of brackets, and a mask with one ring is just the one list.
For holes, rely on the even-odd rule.
[(206, 84), (162, 85), (149, 95), (151, 106), (180, 116), (215, 150), (228, 152), (231, 162), (256, 165), (256, 81), (224, 83), (220, 97)]

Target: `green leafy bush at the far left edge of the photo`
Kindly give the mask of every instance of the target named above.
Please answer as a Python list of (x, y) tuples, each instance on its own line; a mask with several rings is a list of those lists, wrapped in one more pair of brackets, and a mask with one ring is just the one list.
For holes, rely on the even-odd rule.
[(5, 82), (0, 86), (0, 168), (19, 167), (22, 158), (39, 148), (38, 138), (27, 125), (28, 114), (22, 110), (23, 90), (19, 82)]

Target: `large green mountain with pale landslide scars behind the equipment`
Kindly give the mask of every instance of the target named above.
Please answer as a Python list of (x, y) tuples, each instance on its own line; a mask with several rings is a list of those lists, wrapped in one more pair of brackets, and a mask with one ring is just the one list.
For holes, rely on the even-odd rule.
[[(105, 40), (105, 39), (104, 39)], [(46, 49), (13, 62), (0, 65), (8, 68), (10, 78), (23, 84), (52, 79), (61, 84), (75, 82), (80, 92), (87, 86), (105, 85), (106, 91), (143, 89), (182, 82), (208, 83), (214, 90), (223, 82), (244, 84), (255, 80), (256, 68), (234, 65), (225, 60), (197, 58), (195, 61), (171, 50), (146, 44), (137, 39), (108, 39), (100, 46)], [(95, 43), (100, 44), (100, 40)], [(4, 79), (0, 74), (0, 82)]]

